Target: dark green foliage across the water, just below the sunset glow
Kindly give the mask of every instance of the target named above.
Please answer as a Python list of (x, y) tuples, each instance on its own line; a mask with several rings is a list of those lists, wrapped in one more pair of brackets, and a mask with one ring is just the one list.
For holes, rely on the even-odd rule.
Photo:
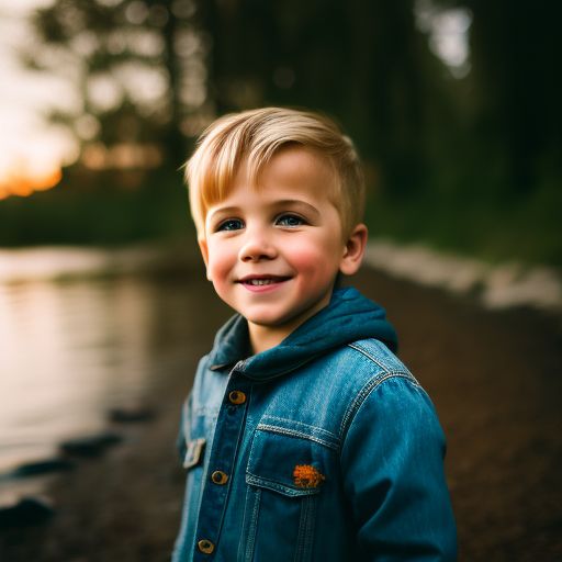
[[(55, 189), (0, 201), (0, 240), (7, 246), (121, 245), (192, 236), (186, 188), (158, 170), (136, 177), (70, 170)], [(123, 184), (134, 183), (134, 189)], [(79, 187), (78, 187), (79, 186)]]

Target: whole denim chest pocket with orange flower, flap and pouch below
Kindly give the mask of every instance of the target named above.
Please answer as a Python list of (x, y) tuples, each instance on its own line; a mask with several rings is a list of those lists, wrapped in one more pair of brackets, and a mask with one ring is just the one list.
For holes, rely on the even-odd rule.
[(256, 429), (246, 470), (245, 542), (239, 560), (307, 561), (334, 451), (302, 434)]

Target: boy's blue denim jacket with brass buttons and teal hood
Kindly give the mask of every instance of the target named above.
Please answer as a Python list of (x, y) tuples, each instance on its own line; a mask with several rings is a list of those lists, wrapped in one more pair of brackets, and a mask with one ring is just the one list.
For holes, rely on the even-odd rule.
[(254, 357), (233, 317), (182, 413), (173, 562), (456, 560), (443, 434), (395, 346), (351, 288)]

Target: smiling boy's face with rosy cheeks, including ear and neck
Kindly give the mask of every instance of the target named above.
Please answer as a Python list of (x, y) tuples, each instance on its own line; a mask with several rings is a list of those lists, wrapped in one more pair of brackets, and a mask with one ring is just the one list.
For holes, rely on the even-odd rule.
[(207, 278), (248, 321), (255, 352), (326, 306), (338, 271), (359, 268), (367, 229), (359, 225), (344, 239), (328, 199), (334, 176), (315, 153), (285, 148), (266, 166), (258, 189), (243, 165), (229, 195), (207, 210), (200, 240)]

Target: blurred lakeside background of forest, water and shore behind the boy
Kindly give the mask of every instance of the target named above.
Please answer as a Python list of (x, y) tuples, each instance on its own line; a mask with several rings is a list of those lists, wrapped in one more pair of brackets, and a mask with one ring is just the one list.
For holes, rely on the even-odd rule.
[[(380, 265), (397, 254), (419, 277), (400, 252), (416, 244), (449, 272), (451, 257), (560, 272), (561, 21), (546, 0), (0, 0), (0, 559), (171, 548), (178, 412), (229, 315), (180, 169), (216, 116), (274, 104), (339, 122), (371, 239), (394, 244)], [(502, 293), (520, 274), (494, 271)], [(362, 276), (449, 437), (463, 560), (560, 560), (560, 316)], [(470, 276), (456, 282), (479, 291)], [(115, 408), (151, 422), (115, 425)], [(36, 474), (108, 429), (121, 452)], [(47, 491), (49, 527), (5, 531), (2, 509)]]

